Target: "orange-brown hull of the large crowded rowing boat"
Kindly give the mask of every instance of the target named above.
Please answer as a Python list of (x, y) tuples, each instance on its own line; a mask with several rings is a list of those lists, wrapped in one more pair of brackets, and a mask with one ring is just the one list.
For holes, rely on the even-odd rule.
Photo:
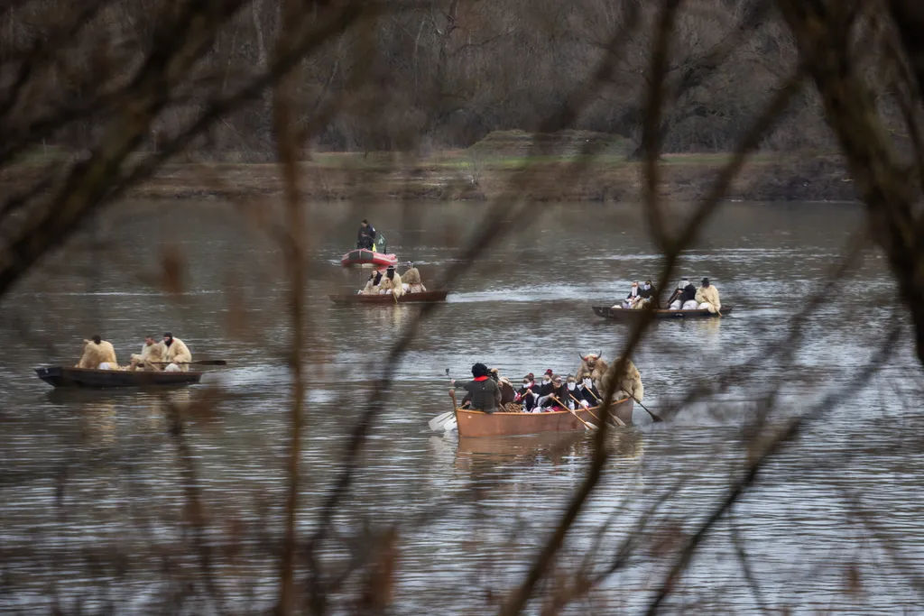
[[(610, 406), (610, 412), (619, 417), (626, 425), (632, 424), (631, 398), (624, 398)], [(589, 424), (598, 425), (602, 420), (601, 409), (575, 411)], [(483, 413), (456, 408), (456, 424), (459, 438), (485, 436), (522, 436), (541, 432), (573, 432), (587, 427), (569, 411), (552, 411), (549, 413)]]

